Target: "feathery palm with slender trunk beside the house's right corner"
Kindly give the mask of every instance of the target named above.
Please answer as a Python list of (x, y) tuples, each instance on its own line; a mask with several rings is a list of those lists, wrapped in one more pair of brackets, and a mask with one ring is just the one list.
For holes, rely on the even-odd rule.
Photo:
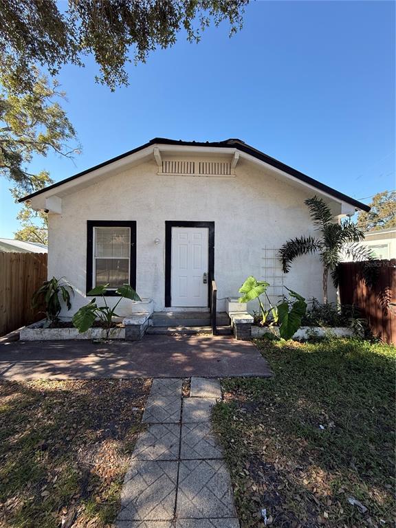
[(305, 200), (305, 204), (309, 209), (309, 216), (316, 231), (320, 232), (321, 236), (297, 236), (295, 239), (288, 240), (279, 250), (279, 255), (283, 272), (287, 273), (290, 270), (290, 264), (298, 256), (319, 253), (323, 265), (323, 301), (327, 303), (329, 272), (337, 287), (338, 264), (342, 256), (347, 256), (353, 261), (371, 260), (372, 257), (369, 250), (359, 244), (364, 240), (364, 232), (350, 218), (335, 223), (327, 203), (316, 196)]

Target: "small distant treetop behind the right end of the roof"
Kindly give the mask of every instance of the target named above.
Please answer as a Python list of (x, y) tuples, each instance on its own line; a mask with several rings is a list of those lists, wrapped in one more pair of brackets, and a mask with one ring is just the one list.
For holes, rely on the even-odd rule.
[(396, 227), (396, 191), (377, 192), (370, 203), (369, 212), (361, 211), (358, 227), (363, 231)]

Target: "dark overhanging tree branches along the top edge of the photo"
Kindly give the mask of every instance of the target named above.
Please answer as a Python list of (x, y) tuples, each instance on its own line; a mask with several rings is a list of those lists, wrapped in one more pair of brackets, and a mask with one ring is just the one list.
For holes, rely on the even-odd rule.
[(55, 75), (66, 63), (83, 65), (93, 54), (98, 80), (115, 89), (127, 85), (125, 65), (144, 63), (157, 47), (175, 44), (185, 30), (197, 42), (202, 31), (228, 20), (230, 34), (242, 25), (248, 0), (1, 0), (2, 64), (23, 89), (32, 84), (32, 66)]

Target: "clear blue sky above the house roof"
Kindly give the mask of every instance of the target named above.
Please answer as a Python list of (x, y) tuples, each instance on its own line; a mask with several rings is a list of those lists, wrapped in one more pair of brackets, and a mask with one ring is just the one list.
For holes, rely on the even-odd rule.
[[(199, 44), (181, 34), (130, 86), (111, 93), (96, 65), (65, 67), (64, 104), (83, 153), (34, 159), (58, 181), (155, 136), (239, 137), (347, 195), (369, 203), (395, 184), (395, 3), (258, 1), (241, 32), (210, 28)], [(0, 236), (12, 238), (19, 206), (0, 181)]]

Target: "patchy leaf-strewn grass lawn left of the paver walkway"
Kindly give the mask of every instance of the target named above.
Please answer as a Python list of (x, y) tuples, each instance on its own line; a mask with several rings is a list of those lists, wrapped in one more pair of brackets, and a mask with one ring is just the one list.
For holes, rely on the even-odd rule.
[(0, 526), (111, 525), (150, 386), (0, 383)]

